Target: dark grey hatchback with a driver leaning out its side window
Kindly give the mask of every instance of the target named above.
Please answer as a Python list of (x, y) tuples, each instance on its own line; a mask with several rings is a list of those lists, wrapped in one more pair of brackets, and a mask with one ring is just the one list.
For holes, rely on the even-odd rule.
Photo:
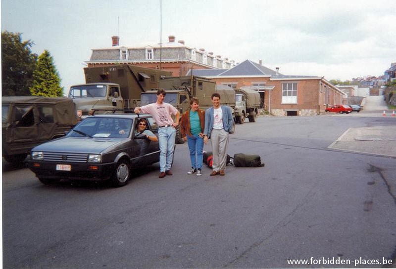
[(158, 137), (158, 126), (150, 115), (93, 115), (65, 137), (33, 148), (29, 168), (44, 184), (75, 179), (110, 180), (115, 187), (124, 186), (132, 168), (159, 161), (158, 142), (137, 133), (140, 118), (147, 119), (147, 129)]

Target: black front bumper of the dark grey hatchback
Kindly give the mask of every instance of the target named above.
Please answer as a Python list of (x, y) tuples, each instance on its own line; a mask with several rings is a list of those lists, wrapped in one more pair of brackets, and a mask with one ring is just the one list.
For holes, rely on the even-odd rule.
[[(56, 164), (71, 165), (70, 171), (56, 170)], [(44, 179), (74, 179), (100, 181), (111, 177), (115, 163), (57, 163), (29, 160), (28, 166), (37, 177)]]

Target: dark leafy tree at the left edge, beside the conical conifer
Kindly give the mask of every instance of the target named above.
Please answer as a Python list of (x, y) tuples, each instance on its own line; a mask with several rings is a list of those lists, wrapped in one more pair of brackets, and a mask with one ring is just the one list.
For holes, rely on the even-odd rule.
[(21, 33), (1, 32), (1, 95), (30, 95), (37, 54), (31, 40), (22, 41)]

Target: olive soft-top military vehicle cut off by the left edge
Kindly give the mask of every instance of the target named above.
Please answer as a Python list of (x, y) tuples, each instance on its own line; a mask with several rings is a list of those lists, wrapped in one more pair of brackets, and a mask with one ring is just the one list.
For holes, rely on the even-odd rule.
[(64, 136), (75, 124), (77, 117), (69, 98), (2, 97), (2, 155), (10, 163), (20, 163), (33, 147)]

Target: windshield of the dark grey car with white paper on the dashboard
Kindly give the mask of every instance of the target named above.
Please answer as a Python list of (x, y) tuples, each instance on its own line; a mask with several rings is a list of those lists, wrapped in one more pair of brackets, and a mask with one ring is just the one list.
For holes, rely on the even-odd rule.
[(131, 118), (88, 117), (74, 127), (67, 135), (76, 137), (126, 138), (132, 127)]

